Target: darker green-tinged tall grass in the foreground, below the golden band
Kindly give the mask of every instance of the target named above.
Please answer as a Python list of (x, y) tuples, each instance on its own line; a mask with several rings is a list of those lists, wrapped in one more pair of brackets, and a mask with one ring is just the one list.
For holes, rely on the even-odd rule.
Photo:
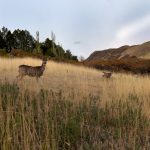
[(0, 85), (1, 149), (143, 149), (150, 122), (143, 102), (131, 94), (101, 105), (89, 95), (76, 103), (62, 91), (20, 94), (16, 84)]

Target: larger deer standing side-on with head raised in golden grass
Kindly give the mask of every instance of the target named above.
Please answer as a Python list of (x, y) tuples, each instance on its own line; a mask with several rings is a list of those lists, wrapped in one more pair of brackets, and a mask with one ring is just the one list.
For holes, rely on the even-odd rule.
[(17, 76), (17, 79), (22, 80), (23, 77), (29, 76), (29, 77), (36, 77), (36, 80), (43, 75), (45, 66), (47, 63), (47, 59), (42, 60), (42, 65), (41, 66), (28, 66), (28, 65), (20, 65), (19, 66), (19, 75)]

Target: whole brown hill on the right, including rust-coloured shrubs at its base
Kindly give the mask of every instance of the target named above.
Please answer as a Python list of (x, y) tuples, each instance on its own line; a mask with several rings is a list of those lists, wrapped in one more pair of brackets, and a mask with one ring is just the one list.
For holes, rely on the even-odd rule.
[(84, 64), (100, 70), (150, 73), (150, 42), (95, 51)]

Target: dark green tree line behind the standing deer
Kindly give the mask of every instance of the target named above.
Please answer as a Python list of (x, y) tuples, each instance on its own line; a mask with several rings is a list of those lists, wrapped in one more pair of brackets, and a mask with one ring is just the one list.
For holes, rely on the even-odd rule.
[(72, 55), (70, 50), (64, 50), (60, 44), (56, 44), (55, 38), (55, 34), (51, 32), (51, 38), (46, 38), (44, 42), (39, 42), (39, 32), (36, 33), (35, 39), (27, 30), (16, 29), (11, 32), (6, 27), (2, 27), (0, 29), (0, 49), (6, 52), (18, 49), (35, 55), (77, 61), (77, 56)]

